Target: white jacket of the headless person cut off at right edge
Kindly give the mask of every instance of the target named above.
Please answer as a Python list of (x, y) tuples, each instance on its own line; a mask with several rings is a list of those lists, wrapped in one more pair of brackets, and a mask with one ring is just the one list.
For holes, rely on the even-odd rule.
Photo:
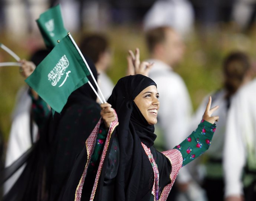
[[(249, 150), (256, 156), (256, 79), (232, 98), (224, 144), (225, 196), (242, 195), (243, 167)], [(256, 157), (251, 161), (256, 162)]]

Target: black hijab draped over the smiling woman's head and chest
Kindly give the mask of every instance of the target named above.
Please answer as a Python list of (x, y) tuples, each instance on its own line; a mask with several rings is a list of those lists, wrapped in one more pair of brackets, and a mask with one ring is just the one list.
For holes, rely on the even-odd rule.
[[(156, 135), (154, 125), (149, 125), (134, 103), (138, 94), (148, 86), (157, 86), (143, 75), (121, 78), (114, 87), (108, 103), (116, 110), (119, 125), (115, 131), (119, 143), (119, 166), (115, 177), (115, 200), (150, 200), (154, 172), (141, 142), (151, 147)], [(112, 136), (115, 133), (112, 134)], [(106, 166), (106, 162), (104, 164)], [(103, 166), (102, 172), (105, 172)], [(104, 174), (98, 183), (96, 199), (101, 200)], [(152, 178), (153, 180), (150, 180)]]

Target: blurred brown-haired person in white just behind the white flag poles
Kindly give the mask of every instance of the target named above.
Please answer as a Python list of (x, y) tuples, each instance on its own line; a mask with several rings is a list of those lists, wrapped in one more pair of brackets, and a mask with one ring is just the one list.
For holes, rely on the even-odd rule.
[(108, 100), (114, 88), (112, 80), (106, 74), (112, 63), (112, 52), (108, 39), (102, 34), (90, 34), (82, 38), (80, 49), (95, 64), (99, 87), (103, 91), (104, 98)]

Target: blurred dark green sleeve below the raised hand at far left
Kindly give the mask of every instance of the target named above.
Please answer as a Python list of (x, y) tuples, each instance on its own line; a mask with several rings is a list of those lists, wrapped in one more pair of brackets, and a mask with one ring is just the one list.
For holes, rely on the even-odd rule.
[(47, 106), (47, 103), (40, 96), (35, 99), (30, 90), (29, 96), (32, 98), (33, 119), (36, 122), (37, 126), (39, 128), (42, 128), (50, 113), (50, 109)]

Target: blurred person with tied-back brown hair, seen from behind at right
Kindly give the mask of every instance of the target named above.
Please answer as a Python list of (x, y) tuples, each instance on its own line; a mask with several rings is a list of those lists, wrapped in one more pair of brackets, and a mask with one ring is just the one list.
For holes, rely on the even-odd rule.
[[(232, 96), (252, 78), (252, 68), (250, 66), (250, 60), (245, 53), (239, 51), (229, 53), (223, 61), (223, 87), (210, 94), (212, 103), (219, 105), (219, 110), (216, 111), (216, 114), (220, 117), (220, 121), (216, 122), (218, 126), (215, 131), (216, 136), (211, 140), (209, 151), (205, 154), (206, 161), (202, 161), (206, 170), (205, 175), (203, 175), (202, 187), (206, 190), (208, 201), (224, 200), (223, 150), (226, 118)], [(204, 98), (194, 114), (191, 128), (197, 125), (197, 120), (201, 119), (201, 112), (206, 107), (207, 97), (209, 96)], [(196, 167), (198, 169), (198, 166)], [(201, 172), (197, 173), (201, 174)]]

